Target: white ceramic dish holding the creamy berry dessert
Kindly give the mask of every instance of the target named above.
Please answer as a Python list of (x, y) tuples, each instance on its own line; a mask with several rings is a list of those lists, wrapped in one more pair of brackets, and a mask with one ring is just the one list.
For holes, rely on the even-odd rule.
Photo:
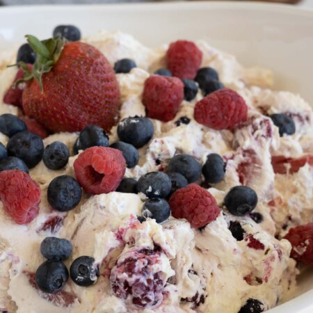
[[(313, 104), (313, 10), (242, 2), (9, 7), (0, 9), (0, 49), (21, 43), (26, 33), (47, 38), (56, 24), (76, 24), (83, 35), (119, 29), (150, 47), (204, 39), (245, 65), (270, 67), (275, 88)], [(268, 313), (312, 313), (312, 270), (300, 275), (299, 285), (300, 296)]]

